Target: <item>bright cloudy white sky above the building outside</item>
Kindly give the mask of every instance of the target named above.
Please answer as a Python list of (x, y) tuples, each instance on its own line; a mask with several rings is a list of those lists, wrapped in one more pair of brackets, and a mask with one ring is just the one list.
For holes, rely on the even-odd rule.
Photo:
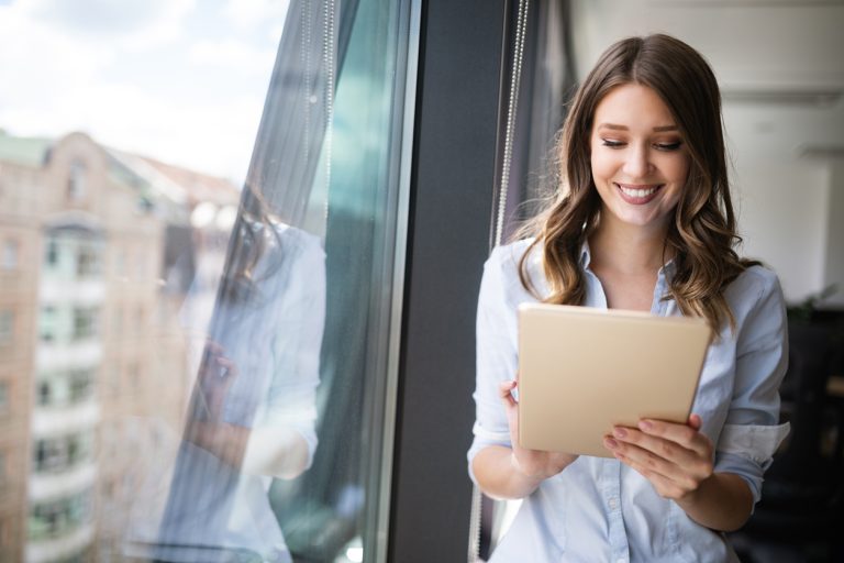
[(289, 0), (0, 0), (0, 129), (246, 174)]

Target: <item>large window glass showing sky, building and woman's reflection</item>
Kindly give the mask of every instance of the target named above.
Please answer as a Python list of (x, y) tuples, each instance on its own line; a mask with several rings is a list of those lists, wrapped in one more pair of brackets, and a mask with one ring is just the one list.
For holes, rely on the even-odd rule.
[(0, 559), (371, 559), (409, 0), (85, 1), (0, 2)]

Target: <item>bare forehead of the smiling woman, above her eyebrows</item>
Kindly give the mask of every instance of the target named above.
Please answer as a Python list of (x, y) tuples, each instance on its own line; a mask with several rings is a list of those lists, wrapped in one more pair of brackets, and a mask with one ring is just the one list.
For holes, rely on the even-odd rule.
[(593, 123), (646, 126), (676, 125), (676, 120), (656, 91), (641, 84), (625, 84), (610, 90), (595, 109)]

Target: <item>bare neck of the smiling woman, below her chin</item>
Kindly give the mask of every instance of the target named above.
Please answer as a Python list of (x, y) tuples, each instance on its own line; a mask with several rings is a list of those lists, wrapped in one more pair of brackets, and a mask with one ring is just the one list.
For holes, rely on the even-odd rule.
[(623, 274), (655, 273), (663, 267), (667, 225), (643, 229), (618, 221), (600, 221), (589, 238), (592, 263)]

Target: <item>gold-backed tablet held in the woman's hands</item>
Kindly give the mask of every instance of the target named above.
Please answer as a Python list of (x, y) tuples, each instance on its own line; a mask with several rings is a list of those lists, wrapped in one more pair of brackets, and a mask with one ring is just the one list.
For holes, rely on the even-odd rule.
[(688, 421), (709, 342), (702, 318), (521, 305), (519, 443), (612, 457), (613, 426)]

